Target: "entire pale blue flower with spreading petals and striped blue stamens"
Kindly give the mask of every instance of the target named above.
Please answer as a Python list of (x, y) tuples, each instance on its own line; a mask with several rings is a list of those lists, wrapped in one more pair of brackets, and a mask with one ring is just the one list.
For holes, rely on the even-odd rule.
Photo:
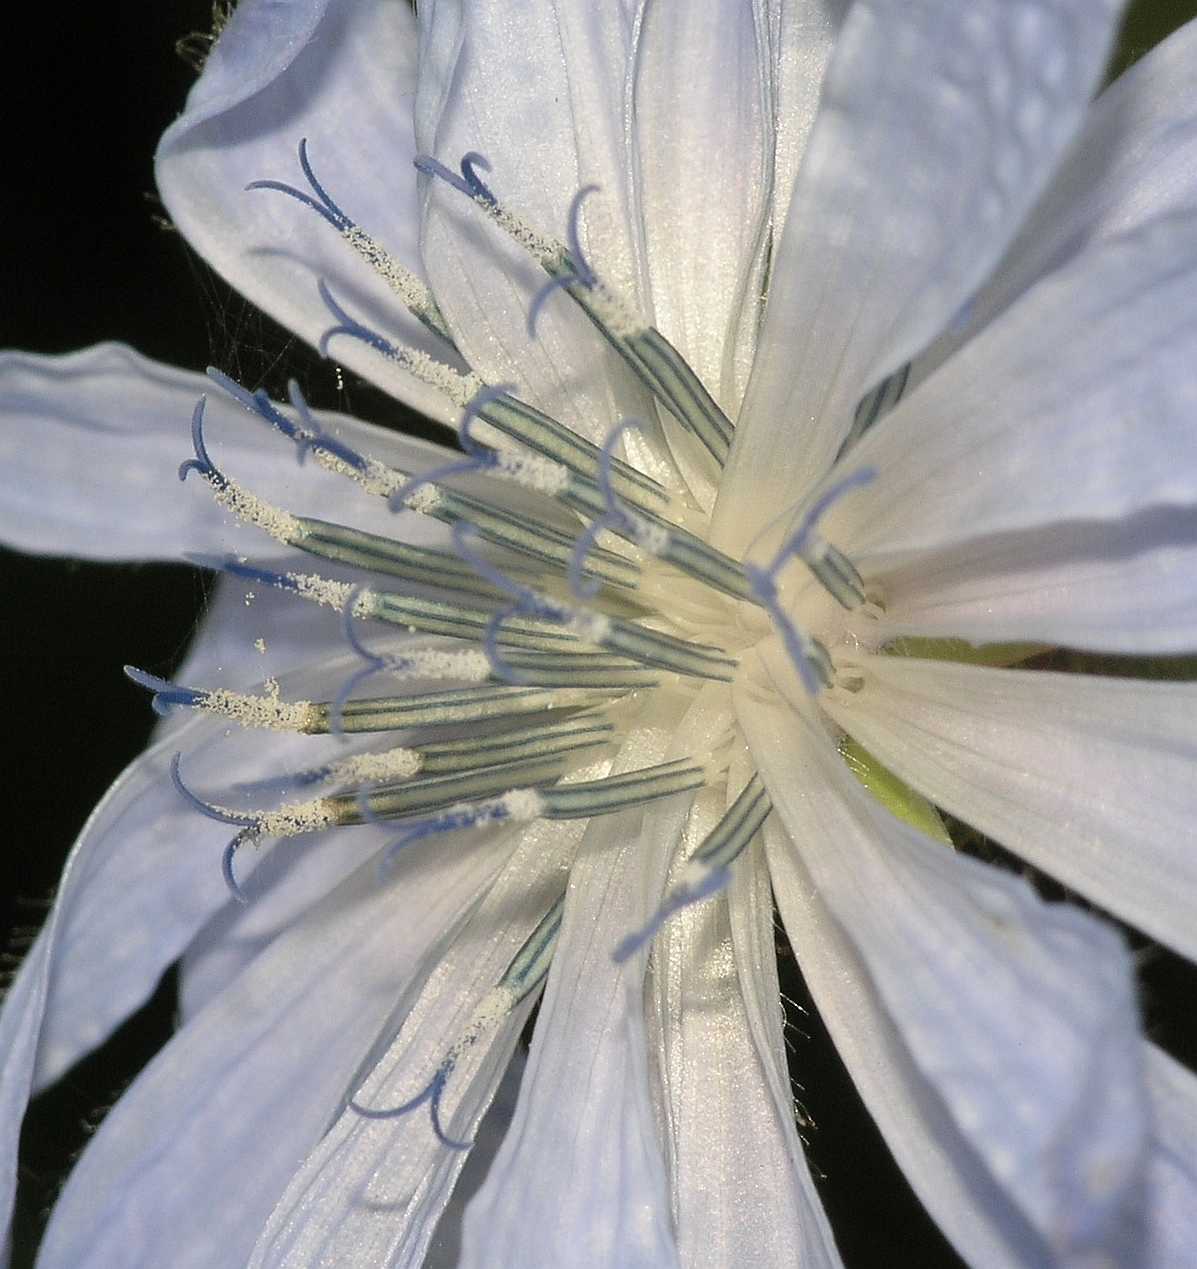
[[(104, 558), (278, 553), (263, 529), (325, 553), (381, 549), (312, 519), (397, 534), (444, 552), (391, 563), (439, 570), (451, 628), (471, 603), (496, 608), (495, 585), (517, 610), (491, 636), (524, 629), (533, 654), (576, 636), (583, 660), (551, 703), (600, 706), (576, 717), (613, 744), (570, 758), (560, 784), (533, 779), (542, 768), (475, 766), (448, 778), (452, 798), (419, 783), (376, 793), (366, 819), (391, 813), (387, 797), (430, 798), (382, 874), (376, 857), (400, 831), (385, 819), (298, 831), (362, 819), (353, 797), (234, 811), (248, 838), (288, 838), (237, 905), (218, 868), (230, 830), (184, 803), (170, 756), (227, 801), (246, 780), (344, 763), (355, 750), (300, 732), (338, 717), (353, 730), (367, 707), (303, 704), (335, 700), (360, 667), (335, 615), (261, 586), (246, 609), (244, 581), (226, 585), (180, 675), (201, 709), (170, 720), (96, 810), (0, 1020), (11, 1157), (30, 1085), (184, 956), (184, 1024), (80, 1160), (44, 1264), (419, 1264), (463, 1167), (480, 1184), (466, 1265), (838, 1264), (793, 1124), (770, 887), (862, 1096), (961, 1255), (1189, 1261), (1197, 1090), (1141, 1038), (1120, 938), (955, 854), (929, 805), (1197, 950), (1197, 685), (1014, 669), (986, 651), (1194, 647), (1197, 27), (1089, 109), (1116, 18), (1093, 0), (857, 0), (837, 33), (805, 3), (437, 0), (418, 22), (388, 0), (244, 0), (159, 155), (182, 231), (306, 339), (329, 326), (326, 279), (358, 334), (451, 367), (338, 339), (345, 364), (409, 404), (451, 421), (486, 402), (495, 424), (476, 392), (514, 385), (506, 421), (547, 437), (512, 412), (526, 401), (592, 447), (617, 439), (630, 468), (595, 466), (594, 449), (509, 458), (499, 495), (470, 486), (498, 510), (451, 505), (449, 481), (410, 500), (425, 514), (396, 519), (348, 477), (407, 495), (391, 468), (453, 458), (310, 418), (297, 398), (278, 419), (301, 429), (301, 470), (195, 376), (114, 346), (9, 354), (0, 529)], [(303, 137), (326, 194), (297, 175)], [(496, 206), (411, 165), (470, 151), (489, 161)], [(263, 180), (310, 189), (327, 214), (245, 192)], [(590, 183), (566, 260), (553, 244)], [(569, 286), (529, 336), (546, 272)], [(650, 392), (651, 371), (628, 363), (652, 357)], [(677, 387), (685, 365), (717, 406)], [(660, 407), (670, 383), (675, 418)], [(202, 478), (180, 492), (171, 472), (202, 391)], [(617, 434), (628, 419), (638, 429)], [(638, 572), (612, 536), (597, 544), (611, 555), (575, 553), (578, 522), (550, 494), (590, 497), (592, 519), (637, 543)], [(520, 558), (482, 557), (458, 528), (454, 555), (427, 513), (533, 541)], [(635, 603), (567, 585), (570, 558), (630, 582)], [(429, 629), (378, 598), (383, 581), (355, 591), (353, 571), (302, 569), (334, 579), (292, 581), (305, 598)], [(380, 628), (362, 627), (377, 659), (411, 656)], [(259, 636), (288, 671), (278, 699), (235, 694)], [(932, 642), (894, 655), (900, 638)], [(605, 660), (585, 660), (595, 643)], [(500, 657), (533, 665), (504, 642), (489, 660), (477, 638), (416, 646), (432, 650), (416, 664), (367, 665), (380, 681), (444, 676), (463, 646), (454, 683)], [(472, 739), (470, 690), (444, 711)], [(498, 689), (504, 709), (518, 692)], [(411, 699), (387, 707), (390, 726)], [(275, 730), (230, 723), (248, 714)], [(509, 718), (505, 759), (574, 725), (524, 717), (539, 730)], [(402, 731), (388, 770), (433, 770), (429, 735)], [(456, 763), (461, 749), (435, 753)], [(617, 963), (679, 886), (722, 879), (731, 851), (708, 859), (710, 843), (739, 845), (768, 805), (726, 890), (684, 906), (651, 958)], [(467, 827), (451, 838), (451, 820)], [(467, 1162), (443, 1138), (477, 1131), (550, 953), (510, 1123), (487, 1142), (505, 1121), (486, 1121)], [(363, 1113), (413, 1099), (439, 1133), (421, 1109)]]

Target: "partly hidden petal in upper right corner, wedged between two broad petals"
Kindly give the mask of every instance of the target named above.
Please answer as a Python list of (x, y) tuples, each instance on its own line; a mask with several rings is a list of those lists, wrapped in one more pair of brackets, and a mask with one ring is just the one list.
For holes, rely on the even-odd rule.
[(1043, 274), (1109, 237), (1194, 206), (1194, 75), (1197, 22), (1191, 22), (1102, 93), (1002, 266), (960, 324), (919, 359), (915, 378), (969, 343)]

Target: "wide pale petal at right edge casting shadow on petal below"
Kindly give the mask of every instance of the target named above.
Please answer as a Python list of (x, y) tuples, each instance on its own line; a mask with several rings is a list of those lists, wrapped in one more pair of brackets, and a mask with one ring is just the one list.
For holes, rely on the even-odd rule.
[(1041, 282), (857, 445), (873, 483), (826, 516), (859, 565), (1197, 501), (1197, 214)]

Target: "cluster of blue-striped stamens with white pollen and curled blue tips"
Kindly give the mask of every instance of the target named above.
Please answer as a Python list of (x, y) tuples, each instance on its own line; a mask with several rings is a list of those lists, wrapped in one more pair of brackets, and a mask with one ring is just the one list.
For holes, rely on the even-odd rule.
[[(273, 180), (250, 188), (282, 192), (319, 213), (460, 358), (428, 288), (333, 201), (302, 142), (300, 165), (308, 190)], [(467, 155), (460, 175), (432, 159), (418, 166), (470, 198), (543, 268), (546, 283), (529, 307), (533, 334), (545, 306), (564, 292), (668, 415), (668, 428), (679, 428), (708, 467), (722, 467), (732, 440), (730, 420), (678, 350), (605, 288), (583, 254), (579, 216), (592, 190), (574, 199), (562, 244), (499, 203), (479, 176), (487, 170), (479, 156)], [(644, 424), (623, 420), (604, 444), (593, 445), (522, 401), (514, 388), (485, 383), (472, 371), (454, 369), (364, 326), (324, 283), (320, 296), (334, 319), (321, 349), (334, 338), (359, 340), (443, 391), (462, 411), (460, 458), (430, 471), (400, 471), (325, 433), (294, 383), (288, 412), (220, 372), (211, 377), (291, 440), (301, 461), (311, 456), (386, 499), (392, 510), (439, 522), (452, 551), (272, 505), (216, 464), (204, 438), (204, 401), (197, 404), (194, 456), (180, 467), (180, 478), (201, 476), (232, 515), (353, 577), (306, 567), (278, 572), (237, 557), (203, 561), (340, 614), (359, 667), (327, 699), (284, 700), (272, 684), (258, 694), (179, 687), (128, 670), (155, 693), (160, 711), (184, 706), (248, 727), (335, 735), (347, 745), (340, 758), (258, 787), (259, 794), (279, 792), (278, 805), (244, 810), (227, 805), (235, 798), (208, 801), (194, 793), (182, 758), (175, 759), (180, 794), (237, 830), (223, 871), (239, 900), (248, 898), (236, 877), (239, 854), (268, 839), (366, 822), (393, 826), (395, 839), (378, 857), (385, 876), (411, 843), (432, 835), (537, 819), (588, 820), (726, 784), (729, 764), (743, 751), (726, 685), (741, 656), (762, 641), (779, 642), (810, 695), (837, 684), (837, 656), (858, 638), (853, 623), (867, 621), (868, 596), (856, 567), (819, 527), (833, 504), (868, 483), (871, 472), (829, 485), (768, 542), (754, 543), (743, 561), (732, 560), (706, 541), (706, 515), (679, 470), (663, 483), (619, 458), (626, 434)], [(467, 477), (468, 492), (462, 489)], [(510, 497), (498, 496), (500, 482), (508, 494), (515, 486), (519, 510)], [(390, 580), (359, 582), (360, 575)], [(400, 627), (405, 637), (376, 651), (358, 633), (363, 623)], [(383, 695), (359, 692), (367, 681), (388, 679), (406, 680), (405, 688)], [(432, 690), (410, 690), (411, 683)], [(724, 693), (721, 733), (701, 751), (632, 770), (619, 766), (618, 742), (650, 698), (675, 698), (684, 707), (703, 690)], [(385, 747), (350, 751), (358, 737), (371, 746), (382, 737)], [(288, 801), (300, 788), (324, 792)], [(664, 920), (726, 883), (731, 863), (770, 811), (757, 775), (729, 802), (726, 815), (675, 871), (651, 920), (612, 949), (617, 959), (640, 953)], [(449, 1077), (484, 1033), (539, 990), (561, 906), (559, 900), (545, 914), (428, 1086), (391, 1112), (360, 1108), (363, 1113), (400, 1114), (428, 1104), (440, 1140), (468, 1145), (442, 1126)]]

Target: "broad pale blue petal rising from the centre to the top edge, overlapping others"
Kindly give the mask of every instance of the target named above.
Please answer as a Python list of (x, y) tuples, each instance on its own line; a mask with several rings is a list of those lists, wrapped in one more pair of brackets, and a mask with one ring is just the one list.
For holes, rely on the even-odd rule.
[(857, 0), (824, 84), (720, 495), (739, 552), (826, 470), (861, 396), (1017, 232), (1101, 76), (1112, 0)]

